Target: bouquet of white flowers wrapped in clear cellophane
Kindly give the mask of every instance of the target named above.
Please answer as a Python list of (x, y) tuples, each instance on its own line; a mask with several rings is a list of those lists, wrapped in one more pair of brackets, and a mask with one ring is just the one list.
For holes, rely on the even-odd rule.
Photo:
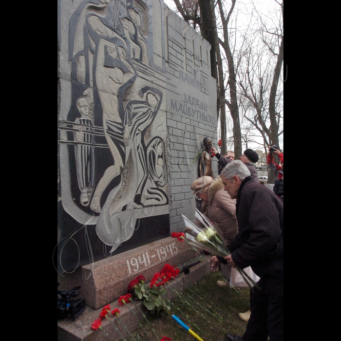
[[(192, 223), (182, 214), (185, 226), (187, 227), (186, 239), (192, 246), (199, 247), (211, 254), (225, 257), (231, 253), (224, 242), (224, 237), (221, 229), (217, 224), (212, 223), (205, 215), (195, 210), (196, 223)], [(236, 266), (237, 271), (242, 275), (247, 285), (252, 289), (252, 283), (259, 290), (261, 287), (250, 278), (247, 273)]]

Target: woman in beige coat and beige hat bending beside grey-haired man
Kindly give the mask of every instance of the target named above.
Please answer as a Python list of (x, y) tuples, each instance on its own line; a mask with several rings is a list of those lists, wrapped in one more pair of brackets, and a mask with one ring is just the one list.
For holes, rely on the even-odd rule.
[[(231, 241), (238, 233), (238, 225), (236, 219), (236, 200), (231, 199), (226, 190), (220, 176), (213, 180), (210, 176), (202, 176), (195, 180), (190, 189), (194, 190), (193, 194), (207, 202), (205, 215), (212, 222), (215, 222), (222, 230), (225, 243)], [(223, 276), (230, 280), (231, 266), (220, 265)], [(224, 281), (218, 281), (218, 285), (227, 285)]]

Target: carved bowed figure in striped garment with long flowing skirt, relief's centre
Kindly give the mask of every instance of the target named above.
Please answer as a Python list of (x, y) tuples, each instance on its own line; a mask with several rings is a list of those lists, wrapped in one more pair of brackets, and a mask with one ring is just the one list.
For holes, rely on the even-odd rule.
[[(147, 86), (139, 91), (139, 96), (145, 100), (129, 101), (125, 109), (123, 141), (126, 156), (121, 181), (109, 193), (96, 226), (99, 238), (113, 246), (110, 252), (132, 236), (138, 218), (138, 213), (134, 215), (134, 212), (142, 209), (142, 205), (134, 202), (135, 195), (148, 187), (148, 181), (144, 186), (148, 168), (141, 135), (158, 112), (162, 92)], [(141, 203), (145, 205), (142, 199)], [(125, 211), (121, 212), (126, 205)], [(120, 216), (121, 213), (124, 217)]]

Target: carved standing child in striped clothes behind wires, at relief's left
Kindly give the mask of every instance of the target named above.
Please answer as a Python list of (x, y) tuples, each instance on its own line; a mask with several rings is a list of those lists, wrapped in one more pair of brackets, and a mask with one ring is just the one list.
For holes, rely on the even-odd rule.
[[(77, 99), (76, 104), (81, 117), (77, 117), (75, 120), (76, 125), (74, 128), (78, 129), (78, 132), (74, 132), (75, 141), (79, 143), (95, 143), (95, 136), (87, 133), (94, 131), (90, 128), (94, 125), (92, 117), (94, 107), (93, 89), (88, 88), (84, 91), (83, 96)], [(75, 156), (78, 186), (81, 191), (80, 202), (83, 206), (88, 206), (95, 183), (95, 147), (76, 144)]]

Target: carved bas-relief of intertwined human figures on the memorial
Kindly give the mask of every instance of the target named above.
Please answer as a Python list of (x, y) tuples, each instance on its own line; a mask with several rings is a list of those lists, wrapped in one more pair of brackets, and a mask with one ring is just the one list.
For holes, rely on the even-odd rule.
[(151, 56), (158, 37), (149, 16), (142, 1), (84, 0), (70, 19), (61, 201), (79, 224), (96, 225), (110, 252), (131, 238), (137, 219), (168, 213), (165, 77), (162, 59)]

